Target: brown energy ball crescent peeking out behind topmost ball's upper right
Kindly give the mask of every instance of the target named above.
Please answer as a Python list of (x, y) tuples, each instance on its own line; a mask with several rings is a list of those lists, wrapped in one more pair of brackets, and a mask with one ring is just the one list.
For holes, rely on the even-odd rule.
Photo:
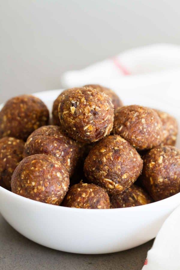
[(110, 97), (113, 105), (114, 105), (114, 110), (116, 110), (118, 107), (123, 106), (123, 103), (120, 100), (120, 98), (118, 97), (118, 95), (116, 95), (116, 93), (113, 90), (111, 90), (110, 88), (104, 87), (104, 86), (99, 85), (99, 84), (88, 84), (88, 85), (85, 85), (85, 87), (91, 87), (93, 89), (98, 90), (101, 93), (104, 92), (106, 95), (108, 95)]

